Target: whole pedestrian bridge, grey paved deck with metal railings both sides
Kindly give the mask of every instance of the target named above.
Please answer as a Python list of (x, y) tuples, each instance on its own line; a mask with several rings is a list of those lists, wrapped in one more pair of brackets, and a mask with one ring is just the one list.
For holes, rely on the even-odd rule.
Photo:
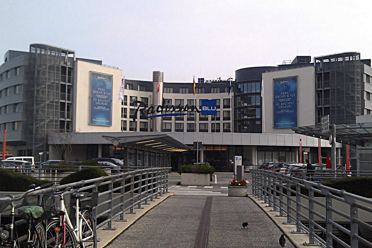
[[(32, 194), (106, 185), (94, 213), (98, 247), (280, 247), (282, 233), (286, 247), (372, 247), (370, 199), (263, 170), (246, 174), (248, 197), (228, 197), (232, 173), (215, 173), (209, 187), (177, 186), (179, 175), (169, 170), (128, 171)], [(9, 207), (0, 210), (4, 218)]]

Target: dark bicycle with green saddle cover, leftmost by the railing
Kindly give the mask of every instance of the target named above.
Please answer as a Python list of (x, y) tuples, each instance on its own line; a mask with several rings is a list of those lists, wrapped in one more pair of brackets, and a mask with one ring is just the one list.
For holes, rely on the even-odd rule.
[[(30, 189), (27, 190), (22, 196), (13, 198), (9, 195), (9, 199), (0, 199), (0, 210), (5, 209), (10, 205), (10, 223), (9, 225), (0, 226), (0, 247), (12, 248), (44, 248), (45, 247), (45, 225), (43, 220), (44, 209), (42, 206), (23, 206), (18, 209), (20, 217), (26, 220), (27, 235), (26, 241), (19, 242), (17, 228), (15, 226), (15, 207), (14, 202), (25, 199), (25, 197), (32, 191), (47, 189), (53, 185), (52, 182), (36, 186), (32, 184)], [(39, 197), (36, 196), (39, 202)]]

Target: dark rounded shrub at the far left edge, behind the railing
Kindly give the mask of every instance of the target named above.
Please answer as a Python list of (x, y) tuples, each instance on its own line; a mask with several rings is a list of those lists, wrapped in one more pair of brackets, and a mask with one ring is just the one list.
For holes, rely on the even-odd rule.
[(15, 173), (8, 169), (0, 168), (0, 191), (24, 192), (31, 184), (41, 185), (47, 183), (47, 180), (39, 180), (35, 177)]

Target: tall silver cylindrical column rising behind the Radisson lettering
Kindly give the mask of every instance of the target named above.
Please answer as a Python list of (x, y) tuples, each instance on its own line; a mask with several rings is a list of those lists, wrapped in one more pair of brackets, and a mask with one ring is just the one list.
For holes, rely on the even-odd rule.
[[(153, 106), (155, 110), (158, 105), (163, 103), (163, 71), (153, 71)], [(159, 92), (156, 93), (159, 82)], [(156, 113), (160, 115), (161, 113)], [(155, 115), (156, 115), (155, 114)], [(153, 131), (161, 132), (161, 125), (163, 123), (163, 117), (151, 118), (153, 122)]]

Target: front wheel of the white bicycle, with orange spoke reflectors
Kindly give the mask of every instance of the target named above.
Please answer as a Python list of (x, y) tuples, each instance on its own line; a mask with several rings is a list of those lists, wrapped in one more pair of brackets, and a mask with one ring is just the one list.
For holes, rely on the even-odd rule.
[[(60, 220), (53, 220), (48, 223), (46, 234), (46, 248), (58, 248), (62, 247), (62, 227), (60, 226)], [(66, 225), (66, 245), (65, 248), (76, 248), (76, 239), (73, 234), (73, 230)]]

